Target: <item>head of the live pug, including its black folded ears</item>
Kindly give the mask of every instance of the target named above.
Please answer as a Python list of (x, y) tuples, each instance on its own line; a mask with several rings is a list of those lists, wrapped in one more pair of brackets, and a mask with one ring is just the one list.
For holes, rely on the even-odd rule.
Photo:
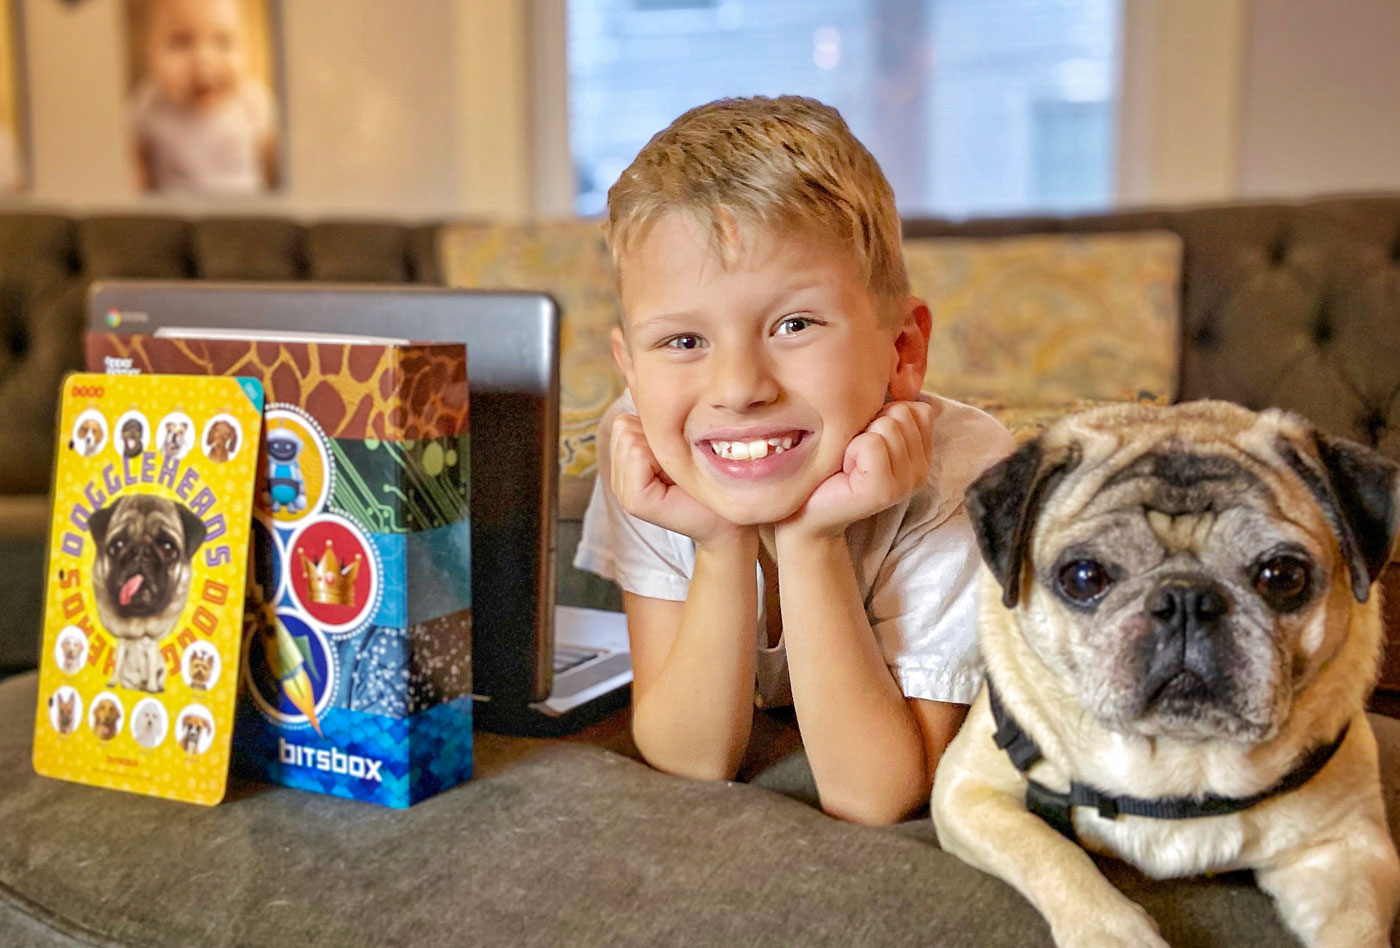
[[(1372, 475), (1375, 510), (1338, 500), (1355, 485), (1336, 476)], [(1140, 406), (1056, 426), (967, 506), (1016, 627), (1084, 711), (1124, 734), (1257, 742), (1383, 566), (1393, 479), (1291, 414)]]

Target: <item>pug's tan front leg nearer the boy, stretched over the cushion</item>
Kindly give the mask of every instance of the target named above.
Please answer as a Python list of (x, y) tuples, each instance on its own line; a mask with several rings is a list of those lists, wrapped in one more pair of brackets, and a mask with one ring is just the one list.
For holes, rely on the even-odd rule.
[(1168, 948), (1142, 906), (1025, 807), (1025, 783), (995, 748), (986, 690), (934, 779), (932, 816), (948, 853), (1012, 885), (1060, 948)]

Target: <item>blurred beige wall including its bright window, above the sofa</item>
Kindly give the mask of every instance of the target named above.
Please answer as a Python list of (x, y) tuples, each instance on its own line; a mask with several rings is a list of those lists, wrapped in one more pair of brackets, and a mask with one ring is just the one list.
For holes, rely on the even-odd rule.
[(588, 216), (686, 108), (778, 92), (906, 214), (1400, 188), (1394, 0), (259, 0), (276, 185), (143, 193), (130, 3), (0, 4), (11, 210)]

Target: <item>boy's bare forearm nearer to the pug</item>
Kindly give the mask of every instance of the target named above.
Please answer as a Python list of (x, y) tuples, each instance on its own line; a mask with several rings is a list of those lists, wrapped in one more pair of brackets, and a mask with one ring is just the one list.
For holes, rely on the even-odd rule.
[(850, 550), (843, 538), (780, 539), (777, 560), (792, 703), (822, 807), (895, 822), (927, 802), (932, 765), (871, 633)]

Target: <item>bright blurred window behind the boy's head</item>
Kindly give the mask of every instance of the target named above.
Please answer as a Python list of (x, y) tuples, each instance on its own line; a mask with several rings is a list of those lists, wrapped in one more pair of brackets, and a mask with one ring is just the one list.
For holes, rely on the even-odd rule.
[(568, 0), (580, 214), (685, 109), (841, 111), (906, 214), (1113, 200), (1121, 0)]

